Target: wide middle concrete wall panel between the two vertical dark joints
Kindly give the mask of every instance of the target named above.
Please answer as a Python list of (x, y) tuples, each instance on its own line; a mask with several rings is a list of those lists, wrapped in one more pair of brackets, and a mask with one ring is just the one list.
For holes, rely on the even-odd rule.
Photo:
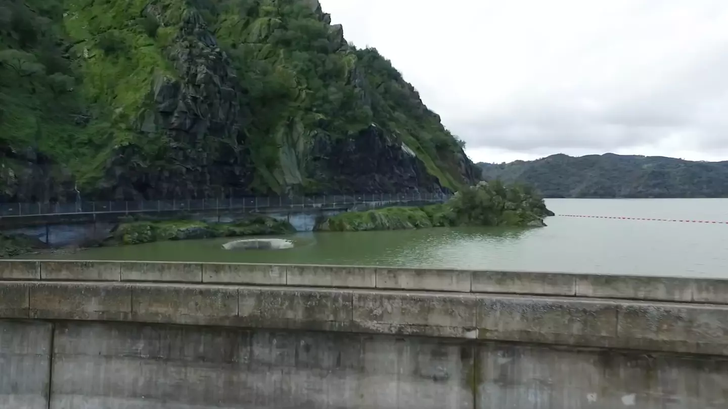
[(472, 362), (430, 338), (59, 323), (51, 408), (467, 409)]

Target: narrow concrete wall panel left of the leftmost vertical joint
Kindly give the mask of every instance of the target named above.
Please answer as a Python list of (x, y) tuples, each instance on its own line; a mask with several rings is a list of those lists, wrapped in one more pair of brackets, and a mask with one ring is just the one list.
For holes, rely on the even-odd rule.
[(52, 325), (0, 320), (0, 408), (48, 409)]

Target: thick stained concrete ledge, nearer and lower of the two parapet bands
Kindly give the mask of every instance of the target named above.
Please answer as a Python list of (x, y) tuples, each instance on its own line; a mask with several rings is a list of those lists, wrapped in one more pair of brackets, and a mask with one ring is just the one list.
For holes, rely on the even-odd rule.
[(144, 282), (0, 282), (0, 318), (423, 335), (728, 355), (728, 306)]

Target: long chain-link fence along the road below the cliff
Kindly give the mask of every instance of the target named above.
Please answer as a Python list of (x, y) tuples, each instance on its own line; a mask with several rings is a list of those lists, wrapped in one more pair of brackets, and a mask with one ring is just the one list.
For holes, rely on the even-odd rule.
[(74, 213), (149, 213), (205, 210), (272, 210), (336, 208), (354, 204), (445, 202), (451, 196), (410, 192), (402, 194), (349, 194), (325, 196), (252, 196), (216, 199), (144, 200), (138, 202), (0, 203), (0, 217), (68, 215)]

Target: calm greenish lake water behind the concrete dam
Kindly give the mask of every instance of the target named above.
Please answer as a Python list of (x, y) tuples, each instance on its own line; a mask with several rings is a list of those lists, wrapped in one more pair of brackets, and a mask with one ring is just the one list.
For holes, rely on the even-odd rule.
[[(569, 218), (598, 215), (728, 221), (728, 199), (548, 199), (541, 229), (306, 233), (289, 250), (223, 250), (230, 239), (84, 250), (55, 258), (324, 263), (728, 277), (728, 224)], [(40, 258), (40, 257), (39, 257)], [(42, 258), (48, 258), (43, 255)]]

